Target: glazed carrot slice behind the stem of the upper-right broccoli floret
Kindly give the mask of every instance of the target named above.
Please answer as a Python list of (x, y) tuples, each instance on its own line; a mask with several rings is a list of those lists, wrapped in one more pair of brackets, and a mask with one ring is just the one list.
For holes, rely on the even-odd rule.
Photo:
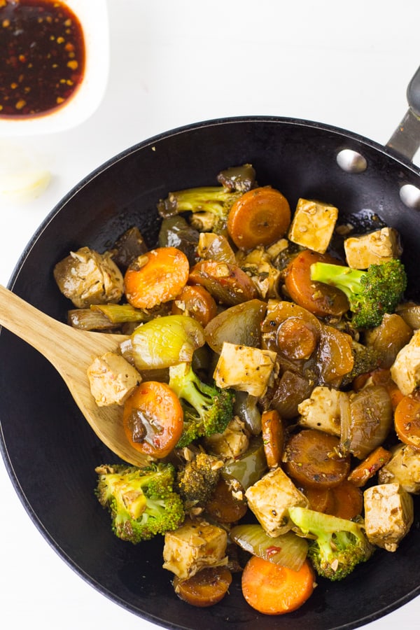
[(339, 289), (311, 280), (311, 265), (314, 262), (341, 264), (328, 254), (304, 249), (286, 267), (284, 284), (293, 302), (300, 304), (318, 317), (340, 316), (349, 310), (346, 295)]

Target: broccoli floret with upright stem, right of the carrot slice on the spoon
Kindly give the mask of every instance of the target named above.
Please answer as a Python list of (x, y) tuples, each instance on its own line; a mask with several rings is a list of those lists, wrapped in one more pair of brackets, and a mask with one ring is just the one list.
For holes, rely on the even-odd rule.
[(169, 387), (183, 407), (183, 431), (177, 447), (186, 447), (199, 437), (223, 433), (232, 420), (234, 393), (203, 383), (190, 363), (169, 368)]

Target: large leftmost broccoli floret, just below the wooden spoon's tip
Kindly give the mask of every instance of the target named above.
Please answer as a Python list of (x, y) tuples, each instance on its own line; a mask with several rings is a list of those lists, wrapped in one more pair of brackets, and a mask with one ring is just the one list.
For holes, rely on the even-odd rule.
[(144, 468), (126, 464), (101, 465), (96, 496), (111, 513), (113, 532), (137, 544), (178, 528), (185, 518), (183, 502), (174, 491), (172, 463)]

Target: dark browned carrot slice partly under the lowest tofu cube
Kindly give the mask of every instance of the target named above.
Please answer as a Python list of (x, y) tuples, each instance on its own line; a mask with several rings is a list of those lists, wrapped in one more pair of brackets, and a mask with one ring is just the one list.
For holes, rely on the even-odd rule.
[(174, 578), (174, 589), (183, 601), (205, 608), (223, 599), (232, 583), (232, 573), (225, 566), (207, 567), (186, 580)]

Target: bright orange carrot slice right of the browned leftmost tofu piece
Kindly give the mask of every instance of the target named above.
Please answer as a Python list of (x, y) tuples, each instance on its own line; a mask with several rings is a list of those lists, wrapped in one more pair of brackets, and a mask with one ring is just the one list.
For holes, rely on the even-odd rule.
[(137, 309), (152, 309), (174, 300), (188, 281), (190, 265), (176, 247), (158, 247), (141, 254), (124, 276), (127, 302)]

